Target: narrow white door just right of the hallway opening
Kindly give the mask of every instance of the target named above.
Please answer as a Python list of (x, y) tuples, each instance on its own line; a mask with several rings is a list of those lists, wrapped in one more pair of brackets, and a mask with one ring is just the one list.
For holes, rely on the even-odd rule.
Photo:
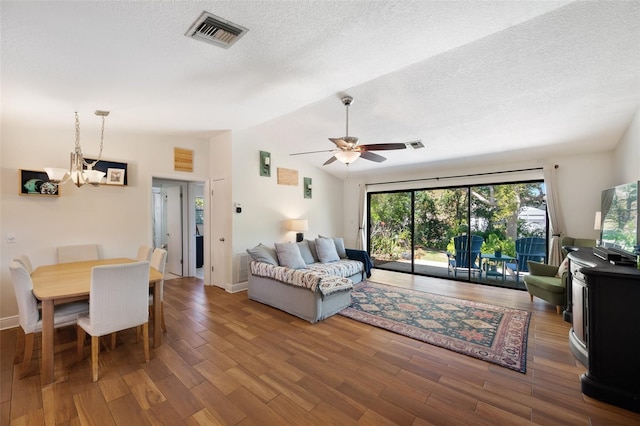
[(225, 253), (229, 239), (226, 235), (225, 199), (227, 183), (225, 179), (211, 181), (211, 283), (225, 287)]

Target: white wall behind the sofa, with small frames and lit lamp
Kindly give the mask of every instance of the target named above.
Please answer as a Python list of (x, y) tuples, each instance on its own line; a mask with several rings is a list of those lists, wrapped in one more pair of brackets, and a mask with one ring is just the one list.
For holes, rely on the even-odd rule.
[[(280, 133), (286, 129), (280, 129)], [(308, 166), (282, 152), (277, 132), (258, 126), (234, 131), (233, 202), (242, 204), (240, 214), (233, 214), (233, 250), (244, 252), (258, 243), (295, 241), (295, 233), (285, 228), (286, 220), (305, 218), (309, 230), (305, 238), (318, 234), (342, 235), (342, 181), (324, 171)], [(260, 176), (260, 151), (271, 153), (271, 176)], [(298, 185), (279, 185), (278, 167), (298, 171)], [(303, 178), (312, 179), (312, 198), (304, 198)]]

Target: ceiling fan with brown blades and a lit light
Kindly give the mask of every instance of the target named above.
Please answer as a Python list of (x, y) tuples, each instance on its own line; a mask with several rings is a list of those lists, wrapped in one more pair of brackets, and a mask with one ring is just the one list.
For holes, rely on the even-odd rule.
[[(372, 151), (390, 151), (395, 149), (406, 149), (406, 143), (377, 143), (377, 144), (367, 144), (367, 145), (358, 145), (358, 138), (355, 136), (349, 136), (349, 106), (353, 103), (353, 98), (351, 96), (344, 96), (342, 98), (342, 103), (347, 108), (347, 131), (346, 136), (341, 138), (329, 138), (331, 142), (336, 144), (336, 148), (321, 150), (321, 151), (308, 151), (308, 152), (298, 152), (291, 155), (304, 155), (304, 154), (316, 154), (319, 152), (333, 152), (333, 156), (329, 158), (323, 166), (327, 164), (331, 164), (336, 160), (340, 160), (345, 164), (350, 164), (356, 161), (358, 158), (362, 157), (365, 160), (375, 161), (376, 163), (382, 163), (386, 160), (382, 155), (376, 154)], [(409, 142), (408, 142), (409, 143)], [(410, 143), (419, 143), (419, 141), (413, 141)]]

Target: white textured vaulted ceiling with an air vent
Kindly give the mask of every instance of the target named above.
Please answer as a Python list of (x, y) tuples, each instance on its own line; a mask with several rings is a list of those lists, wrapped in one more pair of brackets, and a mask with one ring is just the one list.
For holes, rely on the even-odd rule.
[[(185, 37), (203, 10), (249, 32), (228, 50)], [(357, 173), (608, 149), (640, 106), (638, 1), (2, 1), (0, 15), (3, 123), (106, 109), (111, 131), (260, 124), (292, 153), (344, 136), (349, 94), (361, 143), (426, 145)]]

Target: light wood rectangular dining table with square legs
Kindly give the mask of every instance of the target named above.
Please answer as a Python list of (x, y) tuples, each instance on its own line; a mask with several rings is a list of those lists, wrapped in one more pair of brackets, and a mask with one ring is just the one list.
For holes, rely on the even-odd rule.
[[(89, 299), (91, 270), (94, 266), (136, 262), (134, 259), (115, 258), (58, 263), (37, 267), (31, 274), (33, 294), (42, 302), (42, 365), (40, 379), (43, 385), (53, 382), (53, 310), (55, 305)], [(163, 275), (149, 269), (149, 288), (153, 289), (153, 347), (162, 343), (160, 287), (156, 283)]]

